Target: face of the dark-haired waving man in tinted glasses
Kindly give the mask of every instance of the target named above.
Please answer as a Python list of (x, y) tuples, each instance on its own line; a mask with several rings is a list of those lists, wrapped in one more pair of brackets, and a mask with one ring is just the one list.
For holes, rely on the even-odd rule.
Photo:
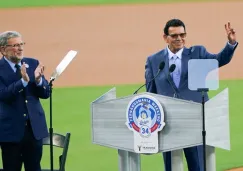
[(164, 35), (164, 40), (168, 43), (173, 53), (178, 52), (185, 45), (186, 31), (184, 27), (169, 27), (169, 35)]

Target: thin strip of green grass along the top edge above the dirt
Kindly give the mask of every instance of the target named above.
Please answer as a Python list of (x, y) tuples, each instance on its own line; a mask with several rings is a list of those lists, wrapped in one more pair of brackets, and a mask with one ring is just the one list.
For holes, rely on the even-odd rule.
[[(174, 3), (195, 0), (1, 0), (0, 8), (39, 7), (39, 6), (74, 6), (74, 5), (105, 5), (132, 3)], [(212, 0), (197, 0), (212, 1)], [(222, 0), (213, 0), (222, 1)], [(195, 1), (196, 2), (196, 1)]]

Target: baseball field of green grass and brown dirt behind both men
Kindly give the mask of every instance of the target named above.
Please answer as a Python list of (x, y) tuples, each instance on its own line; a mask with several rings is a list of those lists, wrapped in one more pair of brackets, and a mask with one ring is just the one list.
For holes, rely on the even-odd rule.
[[(229, 88), (231, 150), (216, 149), (217, 171), (223, 171), (243, 166), (242, 7), (241, 0), (8, 0), (0, 1), (0, 32), (22, 34), (25, 56), (46, 66), (47, 79), (69, 50), (78, 51), (53, 89), (54, 132), (71, 133), (66, 170), (116, 171), (117, 151), (91, 143), (90, 103), (112, 87), (120, 97), (144, 83), (147, 56), (166, 45), (167, 20), (183, 20), (186, 45), (204, 45), (211, 53), (226, 44), (224, 24), (230, 21), (239, 46), (220, 69), (219, 90), (209, 93)], [(42, 104), (49, 123), (49, 100)], [(54, 150), (57, 159), (61, 149)], [(44, 147), (42, 167), (50, 167), (49, 147)], [(142, 171), (151, 170), (163, 171), (161, 154), (142, 156)]]

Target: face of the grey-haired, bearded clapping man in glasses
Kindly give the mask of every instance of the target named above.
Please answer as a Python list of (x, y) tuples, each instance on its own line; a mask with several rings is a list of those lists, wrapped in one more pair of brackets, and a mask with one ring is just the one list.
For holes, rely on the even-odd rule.
[(8, 44), (1, 47), (1, 52), (13, 63), (18, 63), (23, 58), (24, 44), (21, 37), (10, 38)]

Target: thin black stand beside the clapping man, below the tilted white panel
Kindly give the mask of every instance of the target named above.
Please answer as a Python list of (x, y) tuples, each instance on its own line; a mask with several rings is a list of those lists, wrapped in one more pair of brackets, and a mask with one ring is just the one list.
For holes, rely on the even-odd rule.
[(49, 128), (49, 134), (50, 134), (50, 164), (51, 164), (51, 171), (53, 171), (53, 128), (52, 128), (52, 82), (54, 81), (54, 78), (50, 79), (50, 128)]

